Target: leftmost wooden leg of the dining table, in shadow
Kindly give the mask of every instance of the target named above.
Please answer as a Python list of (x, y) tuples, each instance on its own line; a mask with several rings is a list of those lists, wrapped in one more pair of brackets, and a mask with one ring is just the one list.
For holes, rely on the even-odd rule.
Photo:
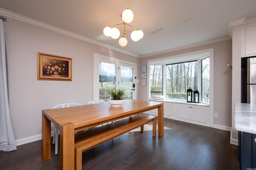
[(51, 156), (51, 121), (42, 113), (42, 160)]

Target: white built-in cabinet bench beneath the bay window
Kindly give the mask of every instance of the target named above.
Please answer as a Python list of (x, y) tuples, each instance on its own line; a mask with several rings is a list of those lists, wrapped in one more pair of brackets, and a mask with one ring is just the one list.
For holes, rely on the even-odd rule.
[[(210, 109), (207, 104), (176, 100), (150, 99), (150, 101), (164, 103), (165, 118), (210, 127)], [(147, 113), (157, 115), (157, 109), (147, 111)]]

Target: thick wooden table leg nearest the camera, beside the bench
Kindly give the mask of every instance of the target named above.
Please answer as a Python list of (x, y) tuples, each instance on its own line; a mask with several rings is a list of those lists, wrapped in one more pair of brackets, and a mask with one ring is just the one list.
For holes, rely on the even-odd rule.
[(75, 135), (74, 124), (60, 125), (60, 169), (72, 170), (75, 168)]

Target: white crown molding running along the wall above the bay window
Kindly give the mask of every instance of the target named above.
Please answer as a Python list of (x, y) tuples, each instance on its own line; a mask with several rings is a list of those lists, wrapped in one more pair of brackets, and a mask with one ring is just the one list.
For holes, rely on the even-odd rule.
[(166, 50), (166, 51), (160, 51), (160, 52), (157, 52), (157, 53), (151, 53), (151, 54), (148, 54), (148, 55), (143, 55), (143, 56), (140, 56), (140, 58), (151, 57), (151, 56), (154, 56), (154, 55), (161, 55), (161, 54), (166, 54), (166, 53), (171, 53), (171, 52), (174, 52), (174, 51), (180, 51), (180, 50), (189, 49), (189, 48), (193, 48), (193, 47), (199, 47), (199, 46), (202, 46), (202, 45), (218, 43), (218, 42), (227, 41), (227, 40), (230, 40), (230, 39), (232, 39), (232, 37), (230, 37), (230, 36), (220, 37), (220, 38), (211, 39), (211, 40), (208, 40), (208, 41), (202, 41), (200, 43), (194, 43), (194, 44), (185, 45), (185, 46), (182, 46), (182, 47), (177, 47), (177, 48), (174, 48), (174, 49), (169, 49), (169, 50)]

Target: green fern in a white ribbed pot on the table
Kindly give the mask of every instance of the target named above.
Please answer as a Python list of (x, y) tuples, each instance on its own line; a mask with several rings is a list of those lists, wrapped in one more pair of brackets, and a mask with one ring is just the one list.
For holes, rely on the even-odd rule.
[(124, 103), (124, 99), (127, 99), (124, 90), (111, 90), (110, 99), (108, 100), (108, 102), (113, 107), (120, 107)]

